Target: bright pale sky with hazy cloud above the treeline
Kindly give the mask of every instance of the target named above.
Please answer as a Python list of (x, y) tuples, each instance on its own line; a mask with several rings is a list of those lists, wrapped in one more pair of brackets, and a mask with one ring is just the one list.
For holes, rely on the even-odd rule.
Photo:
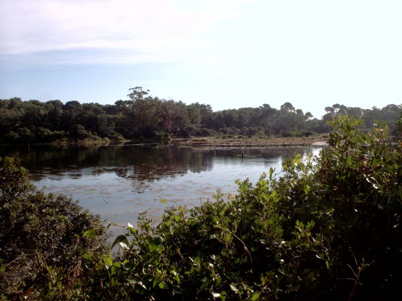
[(2, 0), (0, 99), (402, 103), (400, 0)]

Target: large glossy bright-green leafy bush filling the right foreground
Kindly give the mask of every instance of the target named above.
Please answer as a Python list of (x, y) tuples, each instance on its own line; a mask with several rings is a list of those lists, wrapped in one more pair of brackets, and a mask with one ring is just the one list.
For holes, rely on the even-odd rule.
[[(386, 128), (330, 122), (329, 149), (284, 174), (238, 181), (228, 200), (166, 210), (86, 254), (92, 299), (394, 299), (402, 283), (402, 158)], [(94, 236), (89, 229), (86, 236)]]

